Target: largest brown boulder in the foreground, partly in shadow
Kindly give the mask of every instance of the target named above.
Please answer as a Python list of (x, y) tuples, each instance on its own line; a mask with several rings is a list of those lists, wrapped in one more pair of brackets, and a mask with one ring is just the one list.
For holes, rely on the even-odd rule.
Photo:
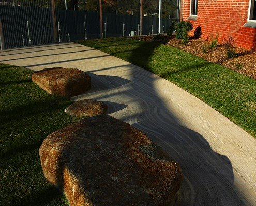
[(39, 153), (44, 176), (70, 205), (169, 205), (183, 179), (145, 134), (106, 115), (50, 134)]

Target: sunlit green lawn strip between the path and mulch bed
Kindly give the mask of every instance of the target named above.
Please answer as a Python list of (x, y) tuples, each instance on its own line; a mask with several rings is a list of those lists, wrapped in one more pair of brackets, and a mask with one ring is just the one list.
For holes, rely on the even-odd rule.
[(128, 38), (78, 43), (124, 59), (175, 83), (256, 137), (256, 80), (157, 43)]

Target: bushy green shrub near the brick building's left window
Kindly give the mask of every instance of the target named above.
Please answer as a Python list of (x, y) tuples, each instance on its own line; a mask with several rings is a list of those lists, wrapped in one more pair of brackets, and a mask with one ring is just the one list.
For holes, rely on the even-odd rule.
[(189, 21), (181, 21), (176, 24), (176, 38), (182, 39), (183, 44), (188, 43), (188, 32), (193, 29), (193, 25)]

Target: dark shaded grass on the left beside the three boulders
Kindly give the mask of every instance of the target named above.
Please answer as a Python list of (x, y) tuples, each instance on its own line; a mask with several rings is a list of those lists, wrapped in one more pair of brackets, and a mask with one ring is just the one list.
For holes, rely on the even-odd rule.
[(68, 205), (43, 176), (38, 149), (47, 135), (79, 118), (68, 98), (31, 82), (27, 68), (0, 64), (0, 205)]

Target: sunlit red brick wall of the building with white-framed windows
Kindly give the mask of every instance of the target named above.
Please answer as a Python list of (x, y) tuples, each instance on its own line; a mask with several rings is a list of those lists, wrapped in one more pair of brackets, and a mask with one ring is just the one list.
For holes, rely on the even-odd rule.
[[(203, 39), (218, 34), (222, 43), (230, 35), (236, 46), (256, 50), (256, 28), (243, 26), (247, 22), (248, 8), (249, 0), (198, 0), (197, 20), (189, 21), (194, 29), (201, 26)], [(189, 14), (190, 0), (181, 0), (180, 19), (187, 20)]]

